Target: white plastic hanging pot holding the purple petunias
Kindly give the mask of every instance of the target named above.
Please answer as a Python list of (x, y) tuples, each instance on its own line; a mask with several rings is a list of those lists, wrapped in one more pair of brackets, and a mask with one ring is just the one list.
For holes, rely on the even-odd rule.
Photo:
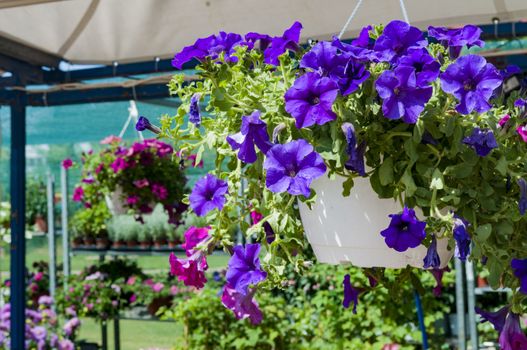
[[(322, 176), (311, 184), (317, 193), (312, 210), (299, 202), (305, 233), (318, 261), (359, 267), (423, 268), (425, 246), (397, 252), (380, 234), (390, 223), (388, 215), (401, 212), (401, 206), (392, 199), (378, 198), (368, 178), (355, 178), (351, 195), (344, 197), (344, 180), (340, 176), (335, 180)], [(441, 267), (453, 255), (447, 244), (447, 239), (437, 242)]]

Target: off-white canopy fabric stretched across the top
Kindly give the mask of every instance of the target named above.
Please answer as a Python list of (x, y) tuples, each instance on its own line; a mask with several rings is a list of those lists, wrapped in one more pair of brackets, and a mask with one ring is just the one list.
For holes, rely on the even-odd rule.
[[(405, 0), (411, 23), (456, 26), (527, 18), (527, 0)], [(279, 35), (294, 21), (302, 40), (336, 35), (357, 0), (0, 0), (0, 36), (72, 63), (169, 58), (220, 30)], [(344, 38), (403, 19), (399, 0), (364, 0)]]

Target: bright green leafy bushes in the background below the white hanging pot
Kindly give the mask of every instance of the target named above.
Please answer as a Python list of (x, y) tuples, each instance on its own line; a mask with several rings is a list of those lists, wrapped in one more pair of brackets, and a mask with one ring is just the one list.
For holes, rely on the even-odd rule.
[[(176, 304), (165, 317), (184, 327), (176, 349), (381, 349), (400, 344), (400, 349), (420, 349), (421, 335), (413, 303), (413, 287), (400, 284), (394, 292), (382, 287), (359, 297), (357, 314), (342, 307), (342, 279), (349, 273), (354, 285), (367, 284), (356, 268), (317, 265), (301, 278), (288, 272), (286, 287), (261, 292), (258, 304), (265, 315), (260, 325), (236, 320), (218, 298), (218, 287), (207, 285), (199, 293)], [(393, 272), (385, 277), (395, 279)], [(426, 288), (434, 285), (432, 275), (422, 271), (418, 279)], [(452, 282), (448, 275), (445, 281)], [(444, 330), (436, 321), (449, 312), (449, 303), (431, 293), (422, 295), (425, 324), (432, 349), (444, 343)]]

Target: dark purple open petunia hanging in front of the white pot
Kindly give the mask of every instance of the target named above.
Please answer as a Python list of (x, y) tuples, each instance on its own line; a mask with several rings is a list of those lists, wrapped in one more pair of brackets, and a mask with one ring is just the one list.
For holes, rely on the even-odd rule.
[(426, 222), (419, 221), (415, 211), (404, 207), (401, 214), (390, 214), (390, 225), (381, 231), (386, 245), (398, 252), (404, 252), (408, 248), (415, 248), (423, 242), (426, 237)]

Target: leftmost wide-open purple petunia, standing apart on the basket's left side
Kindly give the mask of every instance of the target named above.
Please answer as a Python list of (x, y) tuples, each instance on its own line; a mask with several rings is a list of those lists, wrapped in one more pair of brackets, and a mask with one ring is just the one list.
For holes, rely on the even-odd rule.
[(225, 205), (225, 195), (228, 193), (226, 181), (207, 174), (199, 179), (189, 196), (190, 207), (198, 216), (205, 216), (214, 208), (222, 210)]

